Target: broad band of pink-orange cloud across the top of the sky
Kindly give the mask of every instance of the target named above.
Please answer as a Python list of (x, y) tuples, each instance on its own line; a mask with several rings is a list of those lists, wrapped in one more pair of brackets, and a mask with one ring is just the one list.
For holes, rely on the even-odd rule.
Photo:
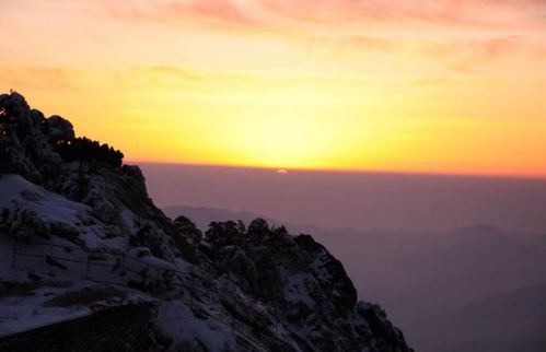
[(397, 55), (414, 50), (457, 71), (521, 54), (544, 58), (546, 51), (542, 39), (546, 2), (539, 0), (130, 0), (123, 7), (105, 4), (125, 20), (264, 34), (317, 52)]

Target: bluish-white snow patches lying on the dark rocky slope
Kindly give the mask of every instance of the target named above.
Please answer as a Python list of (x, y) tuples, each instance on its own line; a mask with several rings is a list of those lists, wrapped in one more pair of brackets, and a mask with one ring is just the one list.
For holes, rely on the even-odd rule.
[[(85, 280), (124, 285), (131, 281), (153, 283), (151, 281), (155, 279), (171, 278), (169, 270), (176, 270), (183, 274), (176, 275), (177, 279), (174, 282), (187, 284), (187, 280), (189, 280), (187, 278), (193, 272), (195, 278), (204, 279), (202, 282), (199, 279), (191, 281), (191, 286), (197, 289), (195, 292), (199, 295), (199, 300), (190, 297), (188, 290), (177, 286), (175, 291), (170, 293), (174, 298), (173, 301), (159, 301), (158, 322), (170, 337), (174, 338), (175, 344), (198, 340), (209, 351), (223, 351), (226, 345), (237, 345), (235, 341), (237, 335), (248, 333), (248, 329), (252, 328), (242, 321), (231, 320), (233, 318), (219, 301), (219, 297), (224, 294), (234, 300), (239, 306), (247, 307), (249, 313), (267, 317), (275, 325), (275, 330), (279, 337), (291, 339), (289, 327), (282, 320), (276, 319), (267, 305), (245, 293), (235, 283), (236, 278), (223, 274), (212, 280), (206, 270), (196, 270), (196, 267), (179, 258), (173, 262), (167, 262), (152, 256), (147, 247), (130, 248), (127, 237), (106, 236), (106, 231), (112, 228), (92, 216), (90, 207), (85, 204), (49, 192), (20, 176), (4, 175), (0, 176), (0, 212), (2, 209), (32, 210), (46, 222), (60, 222), (70, 225), (79, 233), (78, 237), (85, 243), (88, 248), (74, 248), (74, 243), (56, 236), (42, 240), (56, 246), (39, 246), (36, 243), (31, 243), (26, 247), (21, 245), (22, 251), (27, 251), (30, 256), (19, 258), (20, 262), (16, 262), (15, 267), (22, 270), (18, 271), (12, 268), (13, 240), (7, 234), (0, 233), (0, 258), (2, 258), (0, 260), (0, 281), (24, 282), (28, 280), (27, 272), (33, 272), (43, 278), (54, 278), (46, 280), (71, 281), (73, 286), (100, 285)], [(128, 228), (133, 228), (133, 213), (123, 210), (120, 216)], [(89, 221), (90, 219), (92, 221)], [(66, 249), (65, 246), (72, 249)], [(91, 254), (90, 249), (92, 249)], [(57, 263), (62, 266), (55, 265), (55, 262), (51, 265), (48, 262), (48, 258), (54, 258)], [(279, 270), (284, 278), (283, 291), (287, 301), (291, 303), (303, 302), (310, 307), (315, 306), (313, 291), (317, 288), (317, 279), (313, 274), (290, 268), (290, 260), (284, 261), (279, 258)], [(313, 265), (318, 269), (322, 267), (320, 259)], [(321, 274), (321, 270), (317, 271)], [(67, 290), (66, 286), (42, 286), (33, 294), (0, 296), (0, 336), (89, 315), (91, 309), (88, 306), (53, 307), (44, 305), (44, 302), (51, 296), (62, 294)], [(140, 294), (151, 298), (150, 295)], [(184, 298), (188, 298), (189, 302), (184, 302)], [(208, 313), (209, 318), (199, 318), (194, 314), (190, 305), (194, 305), (195, 308), (196, 304), (200, 305), (201, 310)], [(202, 313), (198, 316), (204, 317)], [(236, 322), (240, 327), (237, 328), (239, 332), (236, 332), (237, 329), (233, 331), (229, 326), (222, 325), (214, 317), (226, 317), (230, 322)], [(297, 327), (292, 327), (292, 329), (295, 331)], [(299, 336), (305, 336), (306, 332), (297, 331)], [(254, 345), (256, 351), (263, 350), (260, 343), (264, 342), (256, 340), (253, 342), (249, 336), (246, 336), (245, 339), (248, 341), (247, 343)]]

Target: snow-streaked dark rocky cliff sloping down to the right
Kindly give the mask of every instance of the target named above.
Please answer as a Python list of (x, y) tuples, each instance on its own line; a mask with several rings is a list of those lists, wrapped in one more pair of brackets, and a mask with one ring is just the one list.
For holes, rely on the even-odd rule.
[[(212, 223), (205, 234), (184, 216), (173, 222), (119, 151), (77, 138), (68, 120), (45, 118), (13, 92), (0, 95), (0, 246), (24, 238), (25, 250), (42, 254), (14, 256), (27, 272), (18, 279), (132, 290), (124, 296), (155, 305), (160, 337), (151, 341), (162, 349), (409, 350), (377, 305), (358, 302), (342, 265), (312, 236), (259, 219)], [(80, 250), (83, 280), (80, 261), (47, 246)], [(108, 271), (90, 271), (97, 257)], [(16, 277), (2, 268), (3, 281)]]

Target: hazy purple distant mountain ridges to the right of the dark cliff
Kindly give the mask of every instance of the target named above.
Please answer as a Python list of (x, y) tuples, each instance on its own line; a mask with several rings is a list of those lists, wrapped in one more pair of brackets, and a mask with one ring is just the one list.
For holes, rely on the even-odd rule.
[[(170, 209), (178, 210), (167, 211), (170, 216), (191, 214), (204, 224), (237, 213)], [(359, 296), (381, 302), (418, 351), (542, 351), (546, 345), (541, 339), (546, 235), (479, 223), (438, 233), (280, 223), (326, 245), (344, 262)]]

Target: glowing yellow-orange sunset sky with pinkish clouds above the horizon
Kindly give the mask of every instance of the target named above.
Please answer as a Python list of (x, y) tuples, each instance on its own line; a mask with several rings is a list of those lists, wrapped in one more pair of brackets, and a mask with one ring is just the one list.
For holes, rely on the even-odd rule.
[(542, 0), (0, 0), (0, 31), (1, 91), (130, 162), (546, 177)]

